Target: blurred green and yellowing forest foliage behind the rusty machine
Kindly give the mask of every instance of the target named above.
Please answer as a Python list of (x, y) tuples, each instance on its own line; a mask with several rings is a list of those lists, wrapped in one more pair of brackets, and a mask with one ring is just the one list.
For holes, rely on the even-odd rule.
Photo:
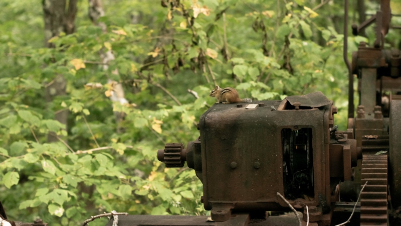
[[(194, 171), (165, 168), (156, 151), (198, 137), (215, 85), (254, 101), (322, 91), (344, 130), (343, 4), (0, 1), (0, 200), (7, 215), (78, 225), (111, 210), (207, 214)], [(401, 13), (400, 2), (391, 8)], [(350, 0), (349, 28), (378, 9), (379, 1)], [(362, 34), (348, 37), (349, 57), (373, 39), (373, 28)], [(386, 47), (400, 42), (399, 30), (390, 30)]]

